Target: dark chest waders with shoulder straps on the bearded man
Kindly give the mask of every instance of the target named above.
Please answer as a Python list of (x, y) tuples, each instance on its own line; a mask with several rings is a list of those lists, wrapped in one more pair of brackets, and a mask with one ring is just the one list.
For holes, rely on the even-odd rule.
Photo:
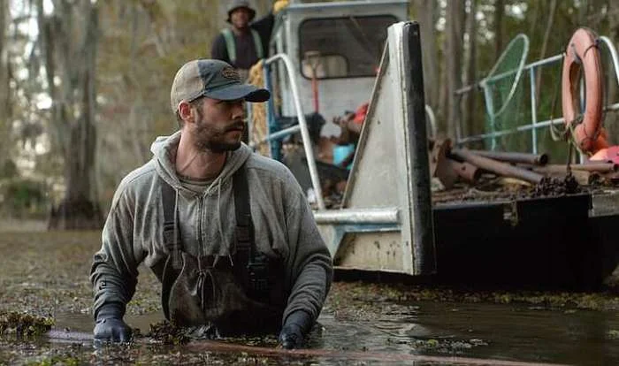
[(233, 264), (228, 258), (214, 261), (217, 255), (195, 256), (183, 250), (174, 219), (176, 193), (165, 182), (161, 190), (168, 254), (161, 277), (166, 319), (178, 326), (215, 326), (222, 336), (277, 332), (287, 299), (281, 280), (284, 271), (281, 261), (256, 248), (245, 166), (233, 175)]

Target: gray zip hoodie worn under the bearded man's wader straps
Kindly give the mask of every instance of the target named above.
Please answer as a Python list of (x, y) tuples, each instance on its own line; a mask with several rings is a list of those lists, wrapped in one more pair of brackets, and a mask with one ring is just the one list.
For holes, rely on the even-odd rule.
[(114, 194), (103, 227), (103, 245), (94, 257), (90, 276), (95, 314), (105, 303), (131, 300), (140, 263), (161, 278), (167, 254), (160, 179), (177, 192), (184, 251), (232, 260), (236, 222), (232, 178), (245, 163), (256, 247), (284, 266), (279, 276), (287, 292), (282, 321), (295, 310), (304, 310), (316, 320), (331, 286), (332, 261), (294, 176), (285, 165), (241, 144), (228, 154), (223, 171), (210, 187), (196, 194), (181, 186), (172, 164), (179, 141), (180, 132), (157, 138), (151, 147), (153, 158), (130, 172)]

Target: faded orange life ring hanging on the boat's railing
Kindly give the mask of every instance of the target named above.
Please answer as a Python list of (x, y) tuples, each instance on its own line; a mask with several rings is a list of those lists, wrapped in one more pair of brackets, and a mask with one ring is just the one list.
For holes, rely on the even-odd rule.
[(602, 70), (597, 38), (591, 29), (578, 28), (569, 40), (563, 60), (562, 111), (568, 126), (579, 114), (580, 70), (585, 73), (585, 113), (582, 123), (574, 128), (573, 138), (587, 154), (608, 148), (607, 133), (602, 126)]

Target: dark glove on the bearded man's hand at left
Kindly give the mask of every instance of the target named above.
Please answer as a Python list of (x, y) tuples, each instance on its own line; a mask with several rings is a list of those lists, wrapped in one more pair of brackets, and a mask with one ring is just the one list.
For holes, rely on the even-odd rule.
[(118, 302), (103, 305), (96, 313), (95, 339), (128, 342), (131, 328), (123, 321), (124, 314), (125, 307)]

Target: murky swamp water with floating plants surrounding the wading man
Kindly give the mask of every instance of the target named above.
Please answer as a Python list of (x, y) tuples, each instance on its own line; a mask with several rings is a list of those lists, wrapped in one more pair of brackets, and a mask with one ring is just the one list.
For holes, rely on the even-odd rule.
[[(98, 232), (0, 235), (0, 312), (55, 319), (53, 338), (0, 336), (0, 365), (619, 364), (616, 290), (470, 293), (361, 282), (333, 284), (300, 352), (274, 350), (275, 337), (95, 348), (88, 271), (99, 240)], [(145, 334), (163, 316), (157, 280), (142, 270), (126, 321)]]

